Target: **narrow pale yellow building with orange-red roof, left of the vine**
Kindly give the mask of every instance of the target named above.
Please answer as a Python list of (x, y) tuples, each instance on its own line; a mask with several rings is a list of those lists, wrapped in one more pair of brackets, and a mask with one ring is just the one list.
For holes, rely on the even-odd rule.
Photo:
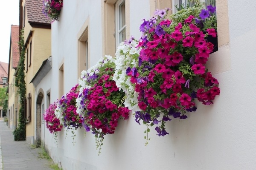
[(15, 86), (15, 72), (20, 58), (19, 50), (19, 26), (11, 26), (8, 83), (9, 83), (9, 99), (8, 99), (8, 120), (9, 128), (15, 129), (18, 124), (18, 98), (17, 87)]

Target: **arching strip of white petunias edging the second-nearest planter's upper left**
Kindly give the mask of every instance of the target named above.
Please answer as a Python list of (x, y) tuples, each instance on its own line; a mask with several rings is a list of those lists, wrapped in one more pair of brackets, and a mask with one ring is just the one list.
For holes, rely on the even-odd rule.
[(99, 74), (99, 68), (103, 67), (105, 63), (112, 61), (113, 62), (113, 57), (109, 55), (105, 55), (105, 57), (101, 57), (99, 61), (96, 63), (96, 65), (93, 65), (92, 67), (88, 68), (88, 70), (83, 70), (81, 71), (81, 78), (78, 80), (78, 84), (80, 85), (79, 89), (79, 95), (76, 98), (76, 113), (79, 115), (84, 114), (84, 106), (81, 105), (81, 101), (84, 98), (83, 91), (84, 89), (89, 89), (91, 88), (90, 84), (90, 77), (92, 76), (97, 76)]

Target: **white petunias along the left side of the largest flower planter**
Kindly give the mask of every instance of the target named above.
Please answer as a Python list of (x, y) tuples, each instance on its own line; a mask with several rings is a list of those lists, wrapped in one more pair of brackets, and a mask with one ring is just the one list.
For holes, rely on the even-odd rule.
[(130, 82), (131, 78), (126, 74), (128, 67), (138, 68), (138, 57), (141, 48), (136, 48), (138, 42), (131, 39), (129, 42), (121, 42), (116, 51), (116, 70), (113, 75), (113, 80), (119, 90), (125, 92), (124, 104), (131, 111), (140, 111), (138, 108), (138, 93), (135, 92), (135, 85)]

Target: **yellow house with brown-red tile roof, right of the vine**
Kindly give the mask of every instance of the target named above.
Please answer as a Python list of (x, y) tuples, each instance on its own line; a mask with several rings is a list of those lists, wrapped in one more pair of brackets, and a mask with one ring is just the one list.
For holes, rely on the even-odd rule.
[[(26, 141), (30, 144), (40, 144), (36, 132), (41, 132), (37, 128), (37, 119), (41, 120), (41, 115), (35, 115), (35, 88), (31, 82), (42, 62), (51, 55), (51, 23), (42, 13), (42, 1), (23, 0), (21, 7), (23, 10), (22, 28), (24, 29), (25, 54), (25, 82), (26, 82)], [(40, 121), (41, 123), (41, 121)], [(41, 134), (40, 134), (41, 135)]]

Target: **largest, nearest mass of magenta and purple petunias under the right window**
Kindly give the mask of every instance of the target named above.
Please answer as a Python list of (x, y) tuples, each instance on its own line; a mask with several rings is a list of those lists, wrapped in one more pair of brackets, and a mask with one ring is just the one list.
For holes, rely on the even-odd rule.
[[(157, 10), (140, 26), (143, 35), (138, 45), (142, 48), (139, 67), (127, 72), (139, 93), (141, 111), (135, 113), (135, 120), (147, 126), (157, 125), (158, 136), (169, 134), (165, 129), (169, 116), (186, 119), (187, 112), (197, 109), (195, 98), (210, 105), (220, 93), (217, 79), (205, 67), (213, 50), (206, 37), (217, 34), (216, 20), (210, 15), (215, 7), (207, 8), (196, 4), (171, 15), (172, 20), (166, 19), (168, 9)], [(149, 131), (145, 130), (145, 144), (150, 139)]]

